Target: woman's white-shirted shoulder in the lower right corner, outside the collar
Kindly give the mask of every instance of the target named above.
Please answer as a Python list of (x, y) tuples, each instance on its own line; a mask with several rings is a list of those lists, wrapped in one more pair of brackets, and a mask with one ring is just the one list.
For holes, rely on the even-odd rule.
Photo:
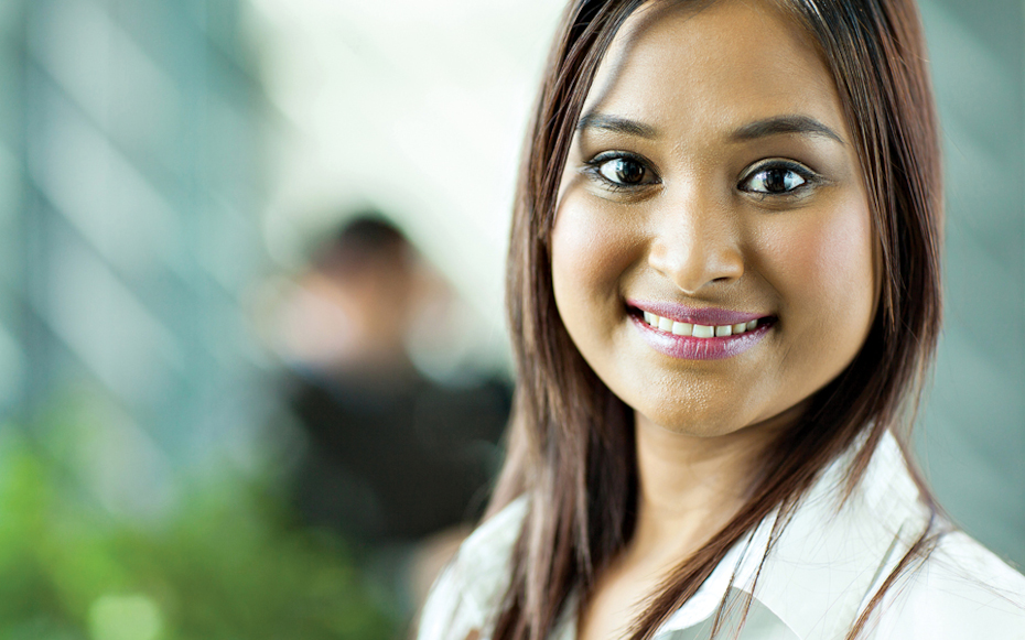
[(876, 638), (1025, 640), (1025, 576), (954, 531), (895, 585)]

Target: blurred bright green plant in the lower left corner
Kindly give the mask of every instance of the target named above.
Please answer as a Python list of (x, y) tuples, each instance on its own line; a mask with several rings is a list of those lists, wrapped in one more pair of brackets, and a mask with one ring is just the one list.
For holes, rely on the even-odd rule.
[(159, 518), (115, 517), (17, 429), (0, 437), (0, 640), (393, 638), (342, 540), (260, 482), (182, 482)]

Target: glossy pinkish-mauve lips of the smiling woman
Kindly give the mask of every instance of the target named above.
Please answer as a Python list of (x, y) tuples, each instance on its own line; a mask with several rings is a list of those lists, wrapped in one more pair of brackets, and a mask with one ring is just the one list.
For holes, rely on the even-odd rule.
[(637, 315), (630, 315), (634, 325), (640, 332), (640, 337), (657, 351), (673, 358), (687, 360), (721, 360), (743, 354), (762, 341), (769, 329), (773, 328), (769, 316), (757, 313), (729, 311), (724, 308), (697, 308), (682, 304), (667, 302), (648, 302), (628, 300), (627, 304), (641, 312), (654, 313), (657, 316), (671, 318), (675, 322), (690, 323), (705, 326), (736, 325), (753, 319), (763, 321), (749, 332), (735, 336), (714, 338), (695, 338), (693, 336), (678, 336), (668, 332), (656, 329)]

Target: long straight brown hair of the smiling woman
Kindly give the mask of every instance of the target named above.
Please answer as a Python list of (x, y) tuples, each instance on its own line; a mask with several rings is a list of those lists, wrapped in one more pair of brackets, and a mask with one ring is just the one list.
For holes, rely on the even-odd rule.
[[(550, 238), (560, 176), (595, 72), (617, 30), (644, 2), (570, 3), (527, 140), (507, 271), (518, 388), (509, 452), (489, 512), (522, 493), (529, 511), (496, 640), (546, 638), (569, 594), (580, 589), (586, 596), (595, 575), (633, 533), (633, 412), (584, 362), (560, 319)], [(854, 361), (813, 395), (799, 422), (766, 452), (751, 498), (711, 542), (676, 567), (635, 621), (634, 640), (650, 638), (731, 546), (774, 509), (788, 512), (819, 471), (856, 442), (848, 485), (853, 489), (883, 434), (900, 435), (910, 426), (936, 347), (942, 185), (914, 0), (777, 3), (818, 43), (845, 108), (880, 241), (877, 312)], [(884, 590), (929, 540), (929, 531), (922, 532)], [(870, 610), (877, 601), (878, 596)]]

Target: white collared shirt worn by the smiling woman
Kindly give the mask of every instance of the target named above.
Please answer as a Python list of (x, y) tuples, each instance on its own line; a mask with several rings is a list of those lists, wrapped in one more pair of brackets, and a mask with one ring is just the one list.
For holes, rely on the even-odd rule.
[[(657, 640), (706, 639), (724, 597), (721, 638), (843, 640), (929, 520), (893, 436), (884, 437), (841, 505), (849, 463), (845, 456), (830, 465), (770, 550), (775, 513), (734, 546)], [(473, 630), (490, 639), (526, 511), (520, 498), (466, 540), (434, 585), (419, 640), (465, 640)], [(747, 596), (751, 607), (735, 636)], [(552, 640), (575, 638), (571, 598)], [(886, 592), (860, 638), (1025, 640), (1025, 576), (964, 533), (947, 533)]]

